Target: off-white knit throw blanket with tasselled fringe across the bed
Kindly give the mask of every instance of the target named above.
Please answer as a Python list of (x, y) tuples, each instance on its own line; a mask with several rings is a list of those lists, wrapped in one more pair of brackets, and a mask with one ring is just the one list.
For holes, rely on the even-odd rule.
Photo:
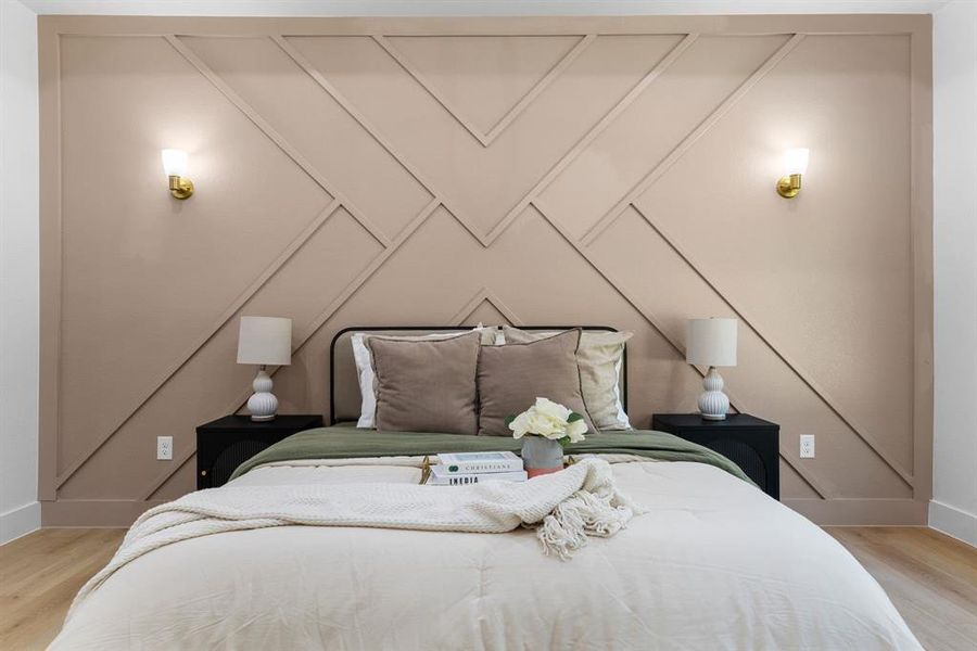
[(523, 483), (299, 484), (199, 490), (143, 513), (109, 564), (78, 591), (68, 617), (130, 561), (210, 534), (287, 525), (495, 534), (538, 525), (543, 553), (567, 560), (586, 545), (587, 536), (613, 536), (638, 512), (618, 492), (610, 464), (599, 459), (584, 459)]

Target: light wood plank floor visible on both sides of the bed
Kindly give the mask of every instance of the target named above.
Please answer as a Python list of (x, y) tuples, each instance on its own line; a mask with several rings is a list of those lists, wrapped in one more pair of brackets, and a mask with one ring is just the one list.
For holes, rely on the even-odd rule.
[[(927, 528), (828, 527), (929, 651), (977, 649), (977, 550)], [(0, 547), (0, 649), (43, 649), (123, 529), (51, 528)]]

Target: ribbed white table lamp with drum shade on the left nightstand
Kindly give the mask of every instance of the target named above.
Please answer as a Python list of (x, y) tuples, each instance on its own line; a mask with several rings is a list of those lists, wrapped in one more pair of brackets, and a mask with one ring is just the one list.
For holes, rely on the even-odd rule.
[(292, 363), (292, 320), (279, 317), (241, 317), (238, 334), (238, 363), (256, 363), (258, 372), (252, 383), (254, 394), (248, 398), (253, 421), (269, 421), (278, 411), (278, 398), (271, 393), (271, 378), (265, 367)]

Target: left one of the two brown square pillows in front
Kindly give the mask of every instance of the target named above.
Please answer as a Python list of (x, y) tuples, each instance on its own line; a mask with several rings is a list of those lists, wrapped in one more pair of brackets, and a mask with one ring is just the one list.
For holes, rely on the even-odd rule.
[(480, 336), (367, 339), (377, 378), (377, 429), (475, 434)]

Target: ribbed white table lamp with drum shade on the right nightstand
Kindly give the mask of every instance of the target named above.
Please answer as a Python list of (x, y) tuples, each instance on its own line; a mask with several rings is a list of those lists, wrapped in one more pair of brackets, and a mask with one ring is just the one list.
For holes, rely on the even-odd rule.
[(709, 367), (702, 380), (699, 413), (708, 420), (725, 420), (729, 398), (715, 367), (736, 366), (736, 319), (689, 319), (685, 337), (685, 360)]

